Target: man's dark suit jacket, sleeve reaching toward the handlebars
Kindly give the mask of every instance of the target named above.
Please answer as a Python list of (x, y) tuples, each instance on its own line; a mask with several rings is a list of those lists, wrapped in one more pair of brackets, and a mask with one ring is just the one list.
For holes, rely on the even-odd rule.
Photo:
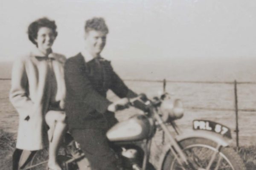
[(115, 119), (113, 113), (107, 111), (111, 104), (106, 99), (109, 89), (120, 98), (137, 96), (103, 58), (85, 63), (79, 53), (67, 59), (64, 75), (67, 88), (65, 110), (70, 130), (104, 129), (108, 119)]

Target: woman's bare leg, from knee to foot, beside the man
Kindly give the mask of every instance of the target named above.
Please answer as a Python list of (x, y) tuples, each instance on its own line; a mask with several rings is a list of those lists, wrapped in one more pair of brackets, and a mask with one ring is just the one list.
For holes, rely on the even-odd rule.
[(46, 115), (46, 121), (50, 129), (49, 137), (49, 161), (48, 167), (51, 170), (61, 170), (56, 156), (60, 142), (66, 131), (65, 113), (61, 111), (49, 111)]

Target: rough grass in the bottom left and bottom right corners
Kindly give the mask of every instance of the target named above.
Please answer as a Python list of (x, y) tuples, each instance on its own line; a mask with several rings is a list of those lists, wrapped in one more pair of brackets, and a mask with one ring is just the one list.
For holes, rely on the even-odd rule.
[[(12, 153), (15, 150), (15, 139), (12, 133), (0, 130), (0, 170), (12, 169)], [(240, 147), (239, 155), (244, 160), (247, 170), (256, 170), (256, 145)], [(158, 159), (155, 157), (154, 159)]]

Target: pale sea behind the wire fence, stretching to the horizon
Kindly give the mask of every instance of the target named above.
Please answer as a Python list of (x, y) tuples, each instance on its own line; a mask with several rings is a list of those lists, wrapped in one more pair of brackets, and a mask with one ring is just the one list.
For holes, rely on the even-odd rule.
[[(236, 113), (234, 81), (237, 84), (239, 145), (256, 144), (256, 58), (254, 57), (183, 57), (164, 59), (116, 58), (111, 60), (116, 73), (138, 94), (149, 98), (166, 92), (181, 99), (186, 108), (176, 121), (183, 133), (191, 133), (194, 119), (206, 119), (230, 127), (232, 145), (236, 145)], [(0, 62), (0, 78), (11, 77), (12, 62)], [(136, 81), (134, 81), (136, 80)], [(150, 80), (150, 81), (149, 81)], [(241, 83), (243, 82), (243, 83)], [(18, 113), (9, 102), (11, 81), (0, 80), (0, 130), (17, 135)], [(113, 92), (108, 99), (118, 100)], [(194, 109), (192, 109), (194, 108)], [(204, 109), (195, 109), (204, 108)], [(240, 111), (250, 110), (250, 111)], [(140, 113), (134, 108), (118, 111), (123, 121)]]

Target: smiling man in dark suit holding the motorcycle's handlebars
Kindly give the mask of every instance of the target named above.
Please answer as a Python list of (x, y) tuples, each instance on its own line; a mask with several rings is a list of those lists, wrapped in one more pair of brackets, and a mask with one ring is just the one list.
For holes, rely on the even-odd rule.
[[(94, 17), (86, 21), (84, 29), (85, 48), (67, 59), (64, 67), (68, 126), (93, 168), (116, 170), (118, 161), (105, 133), (117, 122), (113, 113), (117, 106), (127, 104), (127, 98), (137, 94), (127, 88), (111, 63), (100, 56), (108, 34), (105, 20)], [(109, 89), (123, 99), (110, 102), (106, 99)]]

